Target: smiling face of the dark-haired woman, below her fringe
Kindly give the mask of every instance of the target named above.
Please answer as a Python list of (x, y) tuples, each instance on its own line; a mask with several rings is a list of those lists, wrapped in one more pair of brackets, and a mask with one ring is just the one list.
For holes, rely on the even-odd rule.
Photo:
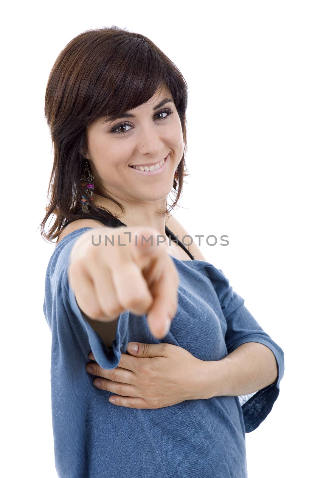
[[(180, 118), (166, 87), (147, 103), (127, 111), (126, 117), (94, 121), (87, 133), (86, 157), (95, 183), (115, 198), (136, 204), (159, 201), (160, 205), (164, 198), (165, 204), (184, 152)], [(94, 202), (97, 206), (98, 201)]]

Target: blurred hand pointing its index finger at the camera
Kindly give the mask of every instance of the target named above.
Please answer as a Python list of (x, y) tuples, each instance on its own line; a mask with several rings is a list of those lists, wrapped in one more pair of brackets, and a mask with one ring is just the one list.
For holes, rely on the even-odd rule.
[(177, 311), (179, 274), (158, 235), (154, 228), (123, 226), (94, 228), (77, 239), (68, 278), (84, 314), (101, 322), (126, 310), (146, 314), (152, 335), (166, 336)]

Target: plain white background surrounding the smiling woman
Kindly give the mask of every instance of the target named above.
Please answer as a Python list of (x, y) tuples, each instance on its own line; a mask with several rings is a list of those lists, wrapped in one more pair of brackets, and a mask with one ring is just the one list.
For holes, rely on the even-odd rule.
[(3, 11), (3, 476), (57, 476), (51, 333), (42, 310), (54, 246), (39, 229), (52, 166), (44, 94), (64, 46), (85, 30), (112, 25), (150, 38), (185, 76), (191, 176), (176, 217), (192, 236), (229, 236), (228, 247), (218, 243), (201, 250), (285, 354), (277, 402), (246, 434), (248, 476), (312, 476), (317, 449), (316, 7), (304, 0), (29, 1)]

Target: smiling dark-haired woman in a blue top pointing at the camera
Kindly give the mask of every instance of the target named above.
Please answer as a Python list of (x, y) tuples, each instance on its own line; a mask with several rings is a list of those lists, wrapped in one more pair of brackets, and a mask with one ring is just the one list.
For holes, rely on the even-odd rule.
[(245, 434), (277, 399), (282, 349), (171, 215), (186, 106), (141, 34), (84, 32), (53, 65), (41, 232), (57, 239), (43, 310), (60, 477), (246, 477)]

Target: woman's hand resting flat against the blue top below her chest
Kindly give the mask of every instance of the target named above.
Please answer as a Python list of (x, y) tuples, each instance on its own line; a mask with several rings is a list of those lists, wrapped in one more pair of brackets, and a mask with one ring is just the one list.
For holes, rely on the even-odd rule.
[[(137, 344), (138, 351), (122, 353), (115, 369), (102, 369), (94, 362), (86, 366), (88, 373), (98, 377), (93, 385), (115, 394), (109, 401), (113, 398), (115, 405), (149, 409), (205, 398), (203, 360), (171, 344), (130, 342), (128, 346), (131, 344)], [(92, 352), (88, 358), (94, 360)]]

